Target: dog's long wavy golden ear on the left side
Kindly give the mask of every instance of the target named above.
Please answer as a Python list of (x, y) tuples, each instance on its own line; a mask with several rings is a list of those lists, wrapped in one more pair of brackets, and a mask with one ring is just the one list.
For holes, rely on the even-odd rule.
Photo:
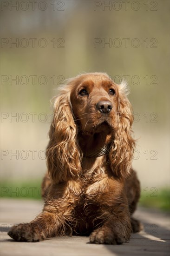
[(81, 171), (81, 151), (77, 142), (69, 90), (61, 91), (54, 102), (54, 114), (46, 149), (47, 168), (54, 183), (67, 181)]

